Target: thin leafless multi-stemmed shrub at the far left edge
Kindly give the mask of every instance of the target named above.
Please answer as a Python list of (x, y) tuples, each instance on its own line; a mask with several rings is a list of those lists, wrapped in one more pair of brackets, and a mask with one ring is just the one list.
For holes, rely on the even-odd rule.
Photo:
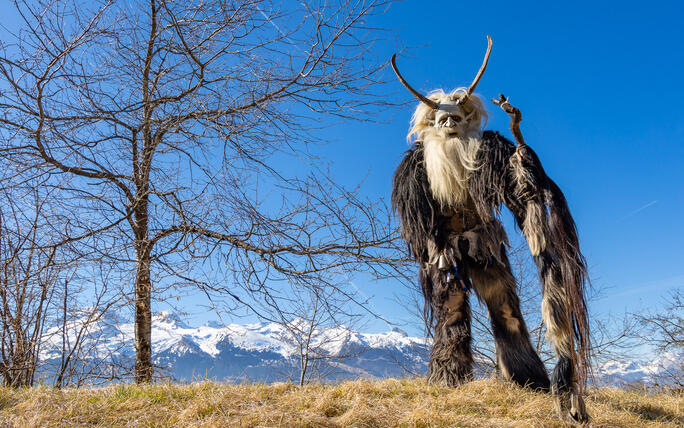
[(0, 375), (6, 386), (31, 386), (62, 260), (43, 235), (46, 197), (30, 188), (1, 196)]

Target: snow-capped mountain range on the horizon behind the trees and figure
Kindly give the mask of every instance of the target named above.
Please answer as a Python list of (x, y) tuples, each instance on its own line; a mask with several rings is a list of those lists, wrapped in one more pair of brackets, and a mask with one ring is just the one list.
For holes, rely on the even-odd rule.
[[(79, 322), (68, 329), (69, 343), (75, 343)], [(290, 328), (275, 323), (228, 324), (209, 322), (199, 327), (187, 325), (170, 312), (159, 312), (152, 319), (152, 349), (157, 374), (175, 381), (196, 379), (222, 381), (274, 382), (296, 379), (299, 373), (299, 344)], [(46, 376), (62, 355), (60, 330), (48, 331), (42, 347)], [(98, 360), (115, 361), (120, 367), (132, 367), (134, 328), (106, 316), (93, 323), (84, 340), (81, 357), (97, 368)], [(326, 381), (422, 375), (427, 369), (430, 341), (410, 337), (394, 328), (385, 333), (361, 333), (344, 326), (322, 328), (313, 332), (310, 349), (310, 371), (314, 378)], [(83, 358), (83, 356), (86, 356)], [(659, 375), (682, 366), (684, 355), (668, 353), (655, 361), (608, 361), (595, 370), (597, 383), (658, 381)], [(483, 373), (476, 367), (476, 373)], [(103, 377), (106, 378), (106, 375)]]

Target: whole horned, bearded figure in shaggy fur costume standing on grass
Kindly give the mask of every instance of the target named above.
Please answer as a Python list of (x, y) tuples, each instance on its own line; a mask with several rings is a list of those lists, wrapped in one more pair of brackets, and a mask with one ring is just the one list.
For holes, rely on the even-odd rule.
[[(589, 370), (589, 324), (584, 298), (586, 262), (563, 193), (544, 171), (519, 129), (520, 111), (501, 95), (517, 145), (483, 131), (487, 115), (473, 83), (424, 96), (396, 67), (421, 103), (411, 119), (413, 141), (394, 174), (392, 206), (402, 236), (420, 263), (419, 280), (433, 336), (428, 380), (454, 386), (472, 378), (469, 291), (487, 306), (501, 375), (550, 390), (564, 419), (589, 419), (582, 398)], [(498, 218), (505, 205), (525, 235), (543, 286), (542, 318), (558, 357), (551, 381), (530, 342)]]

